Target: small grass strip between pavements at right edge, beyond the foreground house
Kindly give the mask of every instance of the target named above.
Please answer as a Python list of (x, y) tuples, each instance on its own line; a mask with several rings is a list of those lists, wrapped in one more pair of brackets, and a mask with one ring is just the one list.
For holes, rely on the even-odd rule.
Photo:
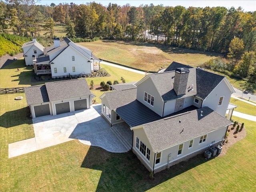
[(234, 111), (256, 116), (256, 106), (240, 101), (236, 98), (230, 98), (230, 103), (238, 106)]

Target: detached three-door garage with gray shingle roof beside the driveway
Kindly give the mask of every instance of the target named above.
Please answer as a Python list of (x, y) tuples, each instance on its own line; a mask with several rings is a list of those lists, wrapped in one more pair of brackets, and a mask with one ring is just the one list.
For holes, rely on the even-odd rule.
[(25, 87), (25, 95), (32, 118), (90, 108), (94, 97), (85, 79)]

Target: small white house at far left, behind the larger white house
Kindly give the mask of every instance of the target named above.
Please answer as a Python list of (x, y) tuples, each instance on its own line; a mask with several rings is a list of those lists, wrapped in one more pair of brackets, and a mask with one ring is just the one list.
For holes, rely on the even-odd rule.
[(22, 45), (24, 59), (26, 65), (33, 65), (33, 60), (38, 58), (38, 55), (44, 52), (44, 46), (33, 39), (30, 42), (26, 42)]

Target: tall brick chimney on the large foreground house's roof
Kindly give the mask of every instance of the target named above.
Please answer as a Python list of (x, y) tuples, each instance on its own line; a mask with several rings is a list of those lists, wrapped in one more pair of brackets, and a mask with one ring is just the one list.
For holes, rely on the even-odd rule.
[(188, 83), (188, 68), (176, 68), (173, 89), (177, 96), (186, 94)]

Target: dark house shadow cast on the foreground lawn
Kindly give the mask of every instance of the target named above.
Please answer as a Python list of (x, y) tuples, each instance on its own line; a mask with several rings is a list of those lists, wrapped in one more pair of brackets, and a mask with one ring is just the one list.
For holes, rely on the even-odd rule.
[(102, 171), (97, 192), (144, 192), (207, 161), (202, 154), (197, 155), (188, 161), (156, 173), (154, 179), (151, 180), (149, 171), (132, 151), (110, 153), (102, 148), (90, 146), (81, 167)]

